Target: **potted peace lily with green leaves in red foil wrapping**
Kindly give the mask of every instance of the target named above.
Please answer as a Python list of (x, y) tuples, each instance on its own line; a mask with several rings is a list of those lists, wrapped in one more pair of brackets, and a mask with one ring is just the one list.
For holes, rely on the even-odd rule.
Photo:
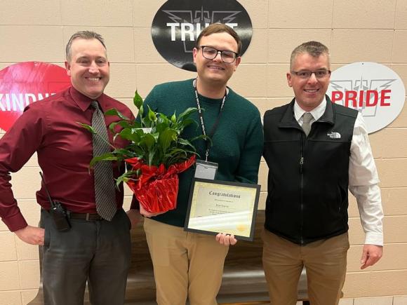
[[(177, 205), (178, 174), (195, 163), (196, 149), (192, 142), (205, 138), (203, 135), (189, 140), (181, 137), (182, 130), (196, 123), (189, 116), (197, 109), (188, 108), (178, 116), (175, 113), (166, 116), (149, 107), (145, 111), (137, 90), (133, 102), (138, 109), (135, 120), (126, 118), (116, 109), (105, 112), (105, 115), (121, 118), (109, 126), (114, 139), (121, 137), (130, 144), (123, 149), (109, 144), (114, 150), (93, 158), (90, 166), (99, 161), (124, 161), (126, 172), (116, 179), (116, 186), (126, 182), (148, 212), (173, 210)], [(95, 133), (92, 126), (80, 124)], [(119, 132), (115, 131), (117, 126)]]

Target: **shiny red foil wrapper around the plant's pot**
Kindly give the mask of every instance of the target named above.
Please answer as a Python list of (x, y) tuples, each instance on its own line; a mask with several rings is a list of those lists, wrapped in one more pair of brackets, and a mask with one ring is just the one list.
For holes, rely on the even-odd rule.
[(132, 170), (140, 170), (137, 180), (129, 179), (126, 183), (135, 194), (138, 202), (148, 212), (164, 212), (177, 208), (178, 174), (187, 170), (195, 163), (196, 156), (187, 161), (170, 165), (168, 169), (164, 164), (157, 166), (145, 165), (138, 158), (128, 158)]

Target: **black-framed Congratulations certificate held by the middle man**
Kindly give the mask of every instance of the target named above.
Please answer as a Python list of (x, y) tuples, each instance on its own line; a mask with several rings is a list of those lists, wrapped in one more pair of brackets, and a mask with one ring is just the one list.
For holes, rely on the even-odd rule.
[(253, 240), (260, 185), (195, 178), (189, 193), (185, 231), (234, 234)]

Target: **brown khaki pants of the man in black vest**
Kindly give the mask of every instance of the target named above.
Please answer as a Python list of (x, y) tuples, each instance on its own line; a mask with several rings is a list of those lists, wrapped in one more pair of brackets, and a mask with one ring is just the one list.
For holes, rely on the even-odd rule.
[(263, 267), (272, 305), (294, 305), (302, 266), (307, 269), (312, 305), (337, 305), (345, 282), (348, 234), (305, 246), (291, 243), (267, 230), (262, 232)]

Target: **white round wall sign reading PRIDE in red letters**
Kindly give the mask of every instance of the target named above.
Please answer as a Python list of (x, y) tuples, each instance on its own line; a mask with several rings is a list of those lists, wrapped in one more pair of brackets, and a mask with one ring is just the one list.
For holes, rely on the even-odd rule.
[(385, 128), (400, 114), (406, 89), (400, 76), (376, 62), (354, 62), (332, 72), (326, 94), (333, 103), (363, 114), (368, 133)]

